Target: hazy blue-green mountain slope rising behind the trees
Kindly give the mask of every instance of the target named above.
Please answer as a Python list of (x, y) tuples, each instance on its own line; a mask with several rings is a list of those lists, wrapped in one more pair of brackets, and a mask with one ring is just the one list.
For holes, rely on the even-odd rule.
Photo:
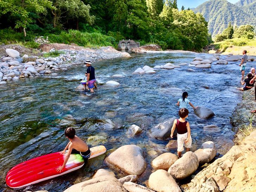
[(249, 13), (245, 7), (236, 6), (226, 0), (209, 0), (194, 9), (201, 13), (208, 22), (208, 29), (212, 36), (221, 33), (229, 22), (232, 25), (255, 25), (256, 17)]

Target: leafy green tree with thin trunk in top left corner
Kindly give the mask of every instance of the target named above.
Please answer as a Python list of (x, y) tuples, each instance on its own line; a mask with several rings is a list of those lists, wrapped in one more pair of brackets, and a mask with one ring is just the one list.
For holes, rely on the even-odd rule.
[(49, 0), (1, 0), (0, 7), (2, 14), (9, 13), (15, 18), (15, 28), (23, 28), (24, 37), (26, 37), (27, 25), (33, 23), (31, 14), (45, 14), (47, 8), (54, 9)]

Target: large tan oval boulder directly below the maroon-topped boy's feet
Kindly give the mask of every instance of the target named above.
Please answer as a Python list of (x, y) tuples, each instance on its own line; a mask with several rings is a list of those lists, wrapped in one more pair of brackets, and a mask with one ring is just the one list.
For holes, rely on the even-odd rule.
[(189, 151), (174, 162), (174, 164), (168, 169), (168, 173), (176, 179), (184, 179), (194, 173), (197, 170), (198, 165), (199, 161), (197, 155), (192, 151)]

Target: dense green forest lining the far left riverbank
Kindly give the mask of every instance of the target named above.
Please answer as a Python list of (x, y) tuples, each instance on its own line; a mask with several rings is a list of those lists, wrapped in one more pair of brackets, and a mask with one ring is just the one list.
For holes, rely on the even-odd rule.
[(82, 46), (134, 39), (163, 49), (200, 50), (210, 39), (203, 16), (178, 11), (177, 0), (0, 0), (0, 28), (4, 43), (42, 35)]

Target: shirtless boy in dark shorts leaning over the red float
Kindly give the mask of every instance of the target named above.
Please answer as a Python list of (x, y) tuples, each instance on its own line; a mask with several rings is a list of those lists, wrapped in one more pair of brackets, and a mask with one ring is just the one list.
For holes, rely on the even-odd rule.
[(65, 147), (65, 149), (60, 153), (65, 154), (66, 149), (68, 149), (68, 152), (65, 154), (63, 165), (56, 169), (56, 171), (59, 172), (61, 172), (61, 170), (65, 167), (66, 163), (69, 160), (70, 154), (82, 155), (82, 157), (84, 158), (84, 165), (87, 164), (87, 161), (91, 155), (89, 146), (84, 141), (82, 141), (78, 136), (76, 136), (76, 130), (74, 128), (66, 128), (65, 136), (69, 139), (69, 143)]

